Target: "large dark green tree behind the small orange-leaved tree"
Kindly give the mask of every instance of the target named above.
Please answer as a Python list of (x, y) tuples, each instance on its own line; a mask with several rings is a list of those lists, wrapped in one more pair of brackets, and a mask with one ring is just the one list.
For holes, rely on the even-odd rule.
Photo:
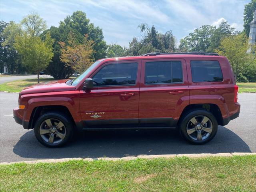
[(50, 29), (44, 31), (50, 32), (51, 38), (54, 39), (53, 52), (54, 56), (52, 62), (50, 62), (47, 72), (56, 79), (69, 78), (73, 74), (73, 69), (70, 66), (66, 66), (64, 62), (60, 60), (61, 48), (58, 42), (64, 42), (69, 44), (69, 34), (72, 33), (76, 44), (82, 44), (84, 42), (84, 35), (88, 35), (88, 40), (94, 42), (93, 45), (93, 60), (106, 57), (107, 45), (104, 41), (102, 29), (94, 24), (90, 23), (90, 20), (86, 18), (86, 14), (82, 11), (73, 12), (71, 16), (67, 16), (64, 21), (60, 22), (59, 27), (52, 26)]

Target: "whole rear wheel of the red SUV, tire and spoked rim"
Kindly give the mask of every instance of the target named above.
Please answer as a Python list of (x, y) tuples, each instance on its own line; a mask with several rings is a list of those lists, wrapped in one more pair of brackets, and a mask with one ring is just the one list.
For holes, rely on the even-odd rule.
[(205, 144), (212, 140), (218, 130), (218, 123), (211, 112), (206, 110), (190, 111), (180, 123), (180, 133), (192, 144)]

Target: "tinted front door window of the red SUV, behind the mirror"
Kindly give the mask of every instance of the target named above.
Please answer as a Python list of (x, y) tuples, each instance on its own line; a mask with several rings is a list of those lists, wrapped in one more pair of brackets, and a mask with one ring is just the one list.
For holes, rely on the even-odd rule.
[(135, 85), (137, 68), (137, 63), (107, 65), (92, 80), (95, 86)]

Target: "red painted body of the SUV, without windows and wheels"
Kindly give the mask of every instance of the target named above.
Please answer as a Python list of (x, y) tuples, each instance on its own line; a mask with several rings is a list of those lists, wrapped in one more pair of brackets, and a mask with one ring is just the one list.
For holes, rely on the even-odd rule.
[[(145, 63), (148, 61), (180, 61), (182, 63), (182, 83), (144, 84)], [(191, 60), (214, 60), (221, 66), (222, 82), (192, 82)], [(92, 78), (107, 64), (136, 62), (138, 71), (134, 86), (105, 86), (83, 90), (84, 80)], [(54, 80), (25, 88), (20, 92), (19, 105), (15, 108), (14, 118), (24, 128), (33, 128), (32, 120), (35, 109), (42, 106), (64, 106), (72, 116), (76, 128), (86, 129), (98, 124), (145, 126), (150, 119), (172, 118), (168, 126), (176, 126), (184, 109), (192, 104), (215, 104), (221, 113), (220, 125), (227, 124), (240, 112), (240, 104), (236, 100), (236, 84), (232, 69), (224, 56), (204, 55), (157, 55), (134, 56), (122, 58), (106, 58), (99, 63), (76, 86), (67, 85), (67, 80)], [(235, 102), (234, 102), (235, 101)], [(104, 112), (104, 114), (102, 114)], [(92, 118), (100, 114), (100, 118)], [(104, 126), (102, 122), (110, 120)], [(157, 122), (156, 122), (157, 123)], [(123, 125), (122, 125), (123, 126)]]

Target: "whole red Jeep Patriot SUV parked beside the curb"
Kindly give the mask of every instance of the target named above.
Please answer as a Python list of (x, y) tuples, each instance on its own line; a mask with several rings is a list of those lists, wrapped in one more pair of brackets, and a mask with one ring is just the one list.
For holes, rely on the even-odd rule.
[(237, 98), (226, 57), (154, 52), (101, 59), (74, 80), (27, 87), (13, 114), (48, 147), (64, 145), (74, 130), (175, 127), (204, 144), (239, 116)]

